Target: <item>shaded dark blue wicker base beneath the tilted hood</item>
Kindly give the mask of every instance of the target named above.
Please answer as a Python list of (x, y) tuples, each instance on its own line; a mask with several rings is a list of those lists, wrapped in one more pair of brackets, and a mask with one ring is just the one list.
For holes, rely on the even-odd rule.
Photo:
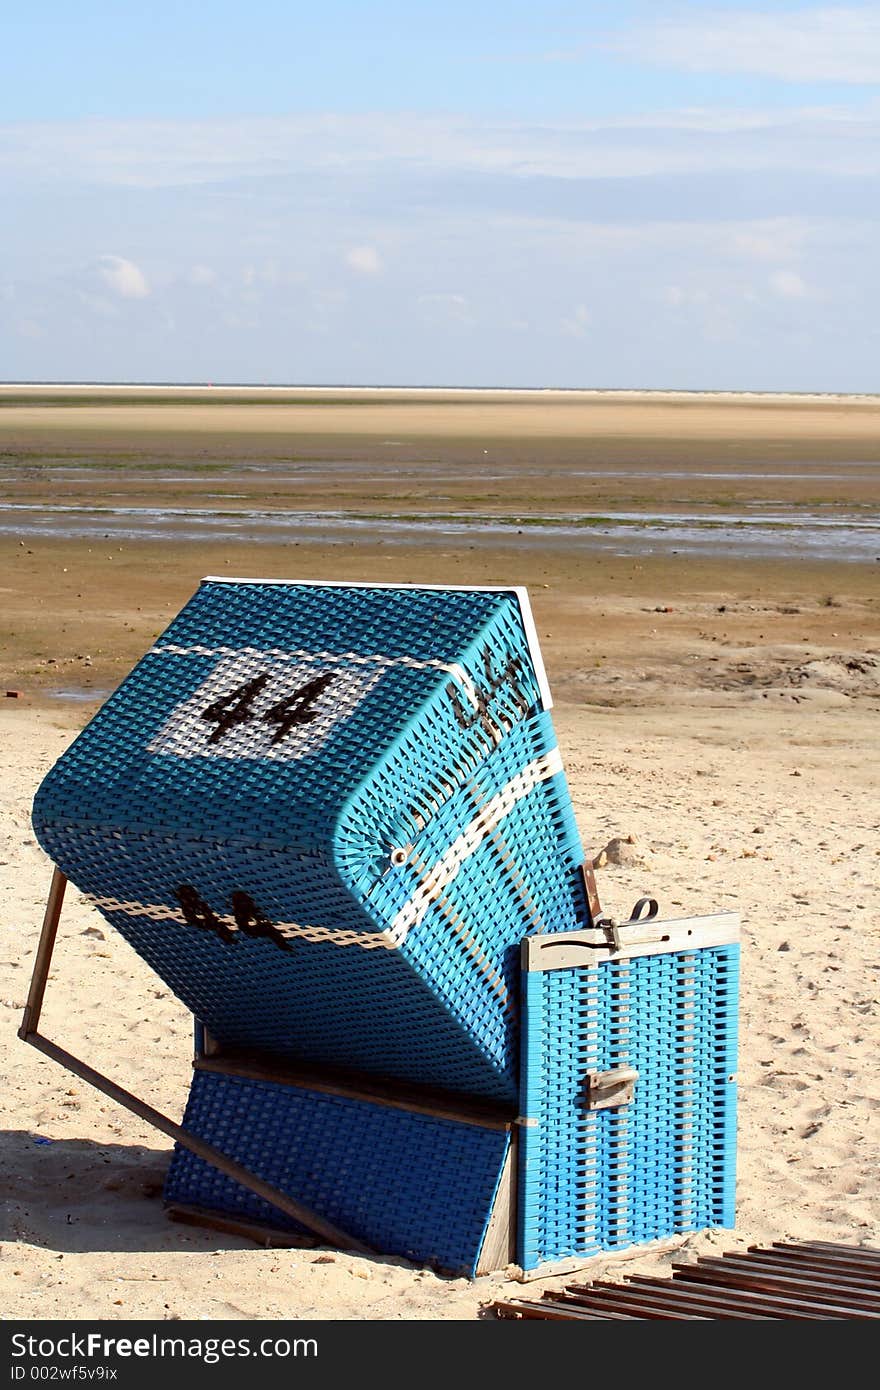
[[(184, 1125), (378, 1252), (464, 1275), (510, 1143), (498, 1129), (215, 1072), (195, 1073)], [(164, 1195), (302, 1230), (179, 1145)]]

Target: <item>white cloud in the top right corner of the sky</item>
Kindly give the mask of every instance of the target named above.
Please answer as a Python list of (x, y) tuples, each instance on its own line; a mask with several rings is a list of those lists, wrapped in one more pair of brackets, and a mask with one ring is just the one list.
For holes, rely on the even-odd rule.
[(880, 10), (876, 4), (776, 14), (702, 10), (698, 15), (635, 24), (605, 46), (620, 57), (678, 72), (748, 72), (783, 82), (873, 85), (880, 81)]

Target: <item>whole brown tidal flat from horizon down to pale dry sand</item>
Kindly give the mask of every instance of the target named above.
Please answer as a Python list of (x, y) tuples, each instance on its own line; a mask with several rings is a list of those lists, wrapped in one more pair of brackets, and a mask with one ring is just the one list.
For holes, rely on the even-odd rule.
[[(708, 674), (731, 644), (841, 655), (879, 641), (879, 499), (873, 398), (7, 386), (0, 676), (113, 688), (211, 573), (527, 584), (559, 678), (660, 649)], [(776, 516), (824, 527), (822, 557)]]

